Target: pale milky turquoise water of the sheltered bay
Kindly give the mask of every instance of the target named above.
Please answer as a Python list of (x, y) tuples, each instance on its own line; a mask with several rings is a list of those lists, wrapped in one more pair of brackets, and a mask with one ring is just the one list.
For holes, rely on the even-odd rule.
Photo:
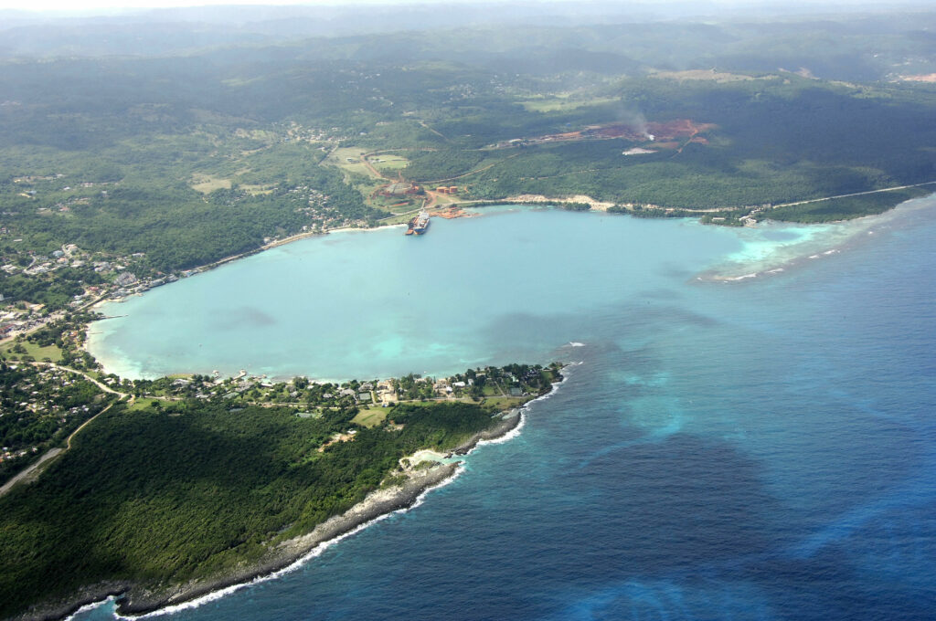
[(244, 368), (349, 379), (540, 361), (589, 338), (595, 313), (658, 305), (701, 267), (816, 230), (515, 209), (436, 219), (420, 238), (337, 233), (110, 304), (123, 316), (95, 324), (90, 349), (109, 370), (150, 378)]

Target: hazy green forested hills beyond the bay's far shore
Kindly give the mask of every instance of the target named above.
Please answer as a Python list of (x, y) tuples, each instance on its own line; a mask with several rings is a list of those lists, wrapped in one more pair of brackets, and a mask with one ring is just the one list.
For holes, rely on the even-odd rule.
[[(276, 35), (247, 19), (245, 39), (203, 49), (187, 22), (159, 25), (156, 45), (141, 34), (152, 18), (0, 30), (7, 299), (93, 284), (89, 266), (22, 273), (64, 244), (139, 254), (139, 276), (377, 224), (397, 203), (376, 192), (397, 179), (457, 185), (459, 199), (591, 195), (736, 221), (764, 204), (936, 181), (936, 87), (918, 79), (936, 72), (932, 11), (456, 30), (427, 17), (425, 30), (316, 38), (300, 22)], [(128, 52), (95, 28), (123, 34)], [(37, 30), (71, 43), (37, 49), (24, 36)], [(396, 164), (374, 161), (374, 173), (358, 162), (373, 152)], [(856, 217), (899, 199), (782, 217)]]

